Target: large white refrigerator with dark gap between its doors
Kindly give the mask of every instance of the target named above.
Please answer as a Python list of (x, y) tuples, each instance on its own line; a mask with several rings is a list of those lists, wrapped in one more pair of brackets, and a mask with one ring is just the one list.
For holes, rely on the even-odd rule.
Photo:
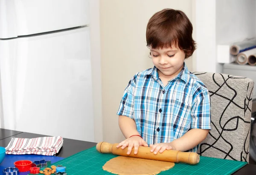
[(94, 141), (89, 0), (0, 0), (0, 124)]

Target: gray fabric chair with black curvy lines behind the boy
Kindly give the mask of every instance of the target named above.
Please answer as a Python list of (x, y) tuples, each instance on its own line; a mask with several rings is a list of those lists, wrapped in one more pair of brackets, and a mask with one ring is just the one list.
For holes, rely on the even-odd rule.
[(211, 127), (198, 154), (249, 162), (253, 80), (233, 75), (193, 72), (209, 90)]

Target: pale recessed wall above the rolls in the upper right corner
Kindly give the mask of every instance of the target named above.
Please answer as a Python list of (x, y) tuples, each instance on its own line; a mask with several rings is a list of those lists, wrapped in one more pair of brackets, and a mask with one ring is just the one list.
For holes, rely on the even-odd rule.
[(255, 37), (255, 0), (216, 0), (216, 43)]

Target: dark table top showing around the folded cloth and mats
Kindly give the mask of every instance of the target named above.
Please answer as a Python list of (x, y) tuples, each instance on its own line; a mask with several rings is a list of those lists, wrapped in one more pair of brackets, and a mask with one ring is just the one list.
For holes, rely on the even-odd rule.
[[(28, 132), (18, 132), (7, 129), (0, 130), (0, 146), (6, 147), (12, 138), (38, 138), (45, 137), (48, 135), (39, 135)], [(3, 132), (3, 134), (2, 134)], [(13, 134), (13, 135), (12, 135)], [(6, 138), (5, 138), (6, 137)], [(64, 143), (59, 153), (56, 155), (58, 157), (67, 158), (77, 152), (81, 152), (84, 149), (89, 149), (93, 146), (96, 146), (97, 143), (87, 142), (87, 141), (78, 141), (68, 138), (63, 138)], [(247, 164), (237, 172), (233, 173), (233, 175), (255, 175), (256, 174), (256, 165), (255, 164)]]

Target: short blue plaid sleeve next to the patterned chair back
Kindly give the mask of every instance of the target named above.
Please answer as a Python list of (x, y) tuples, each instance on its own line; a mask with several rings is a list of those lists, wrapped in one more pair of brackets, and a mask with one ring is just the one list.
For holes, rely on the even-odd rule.
[(190, 127), (192, 129), (211, 129), (210, 109), (210, 96), (207, 88), (199, 88), (192, 103)]

